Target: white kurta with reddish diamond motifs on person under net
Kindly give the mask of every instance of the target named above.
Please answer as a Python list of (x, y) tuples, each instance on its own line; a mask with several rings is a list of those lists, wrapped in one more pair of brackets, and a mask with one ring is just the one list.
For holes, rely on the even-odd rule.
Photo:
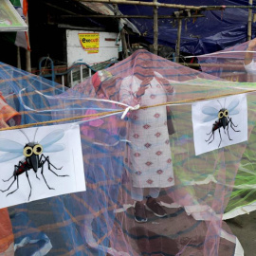
[[(148, 85), (145, 94), (136, 92), (141, 80), (136, 76), (125, 78), (120, 87), (120, 101), (135, 106), (154, 105), (167, 101), (164, 88), (157, 79)], [(129, 115), (128, 155), (126, 165), (132, 173), (134, 187), (164, 188), (174, 185), (174, 171), (167, 128), (166, 106), (139, 109)]]

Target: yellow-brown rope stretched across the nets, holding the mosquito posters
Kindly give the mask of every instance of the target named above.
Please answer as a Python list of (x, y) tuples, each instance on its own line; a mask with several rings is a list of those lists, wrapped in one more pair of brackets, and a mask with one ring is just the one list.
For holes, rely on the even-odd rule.
[[(227, 93), (227, 94), (221, 94), (221, 95), (215, 95), (215, 96), (209, 96), (209, 97), (202, 97), (202, 98), (196, 98), (191, 100), (183, 100), (183, 101), (170, 101), (150, 106), (140, 106), (139, 109), (146, 109), (151, 107), (158, 107), (158, 106), (167, 106), (167, 105), (174, 105), (174, 104), (181, 104), (181, 103), (190, 103), (190, 102), (197, 102), (197, 101), (208, 101), (213, 99), (218, 99), (221, 97), (228, 97), (233, 95), (240, 95), (240, 94), (246, 94), (246, 93), (253, 93), (256, 92), (256, 90), (246, 90), (236, 93)], [(15, 129), (23, 129), (28, 128), (36, 125), (44, 125), (44, 124), (50, 124), (50, 123), (56, 123), (56, 122), (63, 122), (63, 121), (69, 121), (69, 120), (75, 120), (75, 119), (87, 119), (87, 118), (97, 118), (97, 117), (103, 117), (111, 114), (118, 114), (124, 112), (125, 109), (116, 110), (116, 111), (110, 111), (110, 112), (102, 112), (102, 113), (95, 113), (91, 115), (85, 115), (85, 116), (77, 116), (73, 118), (66, 118), (66, 119), (54, 119), (54, 120), (48, 120), (48, 121), (42, 121), (42, 122), (36, 122), (36, 123), (27, 123), (23, 125), (17, 125), (17, 126), (11, 126), (0, 129), (0, 131), (7, 131), (7, 130), (15, 130)]]

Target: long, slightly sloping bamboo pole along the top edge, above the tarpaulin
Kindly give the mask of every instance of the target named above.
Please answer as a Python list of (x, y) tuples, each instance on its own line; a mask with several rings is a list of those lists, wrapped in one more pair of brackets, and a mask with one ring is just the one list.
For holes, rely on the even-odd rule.
[(163, 3), (154, 3), (154, 2), (152, 3), (152, 2), (143, 2), (143, 1), (123, 1), (123, 0), (77, 0), (77, 1), (84, 2), (84, 3), (86, 3), (86, 2), (108, 3), (108, 4), (119, 4), (119, 5), (136, 5), (136, 6), (148, 6), (148, 7), (159, 7), (159, 8), (174, 8), (174, 9), (200, 9), (200, 7), (195, 7), (195, 6), (163, 4)]

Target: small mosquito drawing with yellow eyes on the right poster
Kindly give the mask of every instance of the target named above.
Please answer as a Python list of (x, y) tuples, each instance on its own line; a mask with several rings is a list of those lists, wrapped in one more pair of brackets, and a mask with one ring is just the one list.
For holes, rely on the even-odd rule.
[[(218, 102), (221, 105), (220, 101), (218, 101)], [(225, 100), (225, 102), (226, 102), (226, 100)], [(220, 144), (222, 141), (221, 132), (220, 132), (221, 128), (223, 128), (225, 134), (226, 134), (226, 128), (227, 128), (228, 137), (229, 137), (229, 127), (231, 127), (231, 129), (236, 133), (240, 132), (240, 131), (236, 131), (234, 129), (234, 127), (237, 127), (238, 125), (234, 125), (234, 123), (232, 122), (232, 119), (229, 118), (229, 116), (231, 116), (231, 115), (239, 114), (239, 111), (237, 109), (235, 109), (238, 105), (239, 105), (239, 101), (235, 99), (229, 103), (228, 108), (225, 108), (225, 106), (223, 107), (221, 105), (220, 110), (217, 110), (214, 107), (206, 107), (205, 109), (202, 110), (202, 112), (204, 114), (209, 116), (206, 119), (204, 119), (204, 122), (210, 121), (212, 119), (217, 119), (212, 124), (210, 133), (207, 134), (208, 136), (210, 136), (208, 139), (206, 139), (206, 142), (209, 142), (208, 144), (210, 144), (214, 140), (214, 132), (216, 130), (219, 130), (220, 143), (219, 143), (218, 147), (220, 147)], [(212, 137), (212, 139), (210, 140), (211, 137)], [(229, 140), (232, 140), (232, 139), (229, 137)]]

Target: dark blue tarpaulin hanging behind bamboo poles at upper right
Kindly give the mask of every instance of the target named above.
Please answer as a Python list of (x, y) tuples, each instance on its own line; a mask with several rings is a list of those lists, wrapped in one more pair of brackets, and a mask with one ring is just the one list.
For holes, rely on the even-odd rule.
[[(146, 0), (146, 2), (152, 2)], [(160, 3), (194, 6), (247, 6), (247, 0), (162, 0)], [(253, 1), (255, 2), (255, 1)], [(256, 3), (253, 3), (256, 4)], [(123, 14), (153, 15), (152, 7), (119, 5)], [(159, 8), (158, 15), (172, 15), (177, 9)], [(253, 10), (254, 11), (254, 10)], [(206, 54), (235, 46), (247, 41), (248, 9), (225, 9), (202, 11), (206, 17), (183, 20), (181, 32), (182, 52), (194, 55)], [(153, 19), (131, 19), (143, 38), (153, 43)], [(252, 38), (255, 37), (255, 26), (252, 24)], [(158, 43), (175, 48), (177, 39), (177, 21), (173, 19), (158, 20)]]

